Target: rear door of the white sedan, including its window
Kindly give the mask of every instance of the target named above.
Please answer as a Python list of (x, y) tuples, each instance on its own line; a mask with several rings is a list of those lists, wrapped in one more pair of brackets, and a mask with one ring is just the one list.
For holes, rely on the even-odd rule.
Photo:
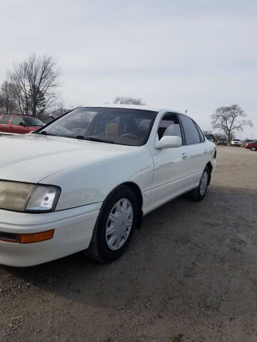
[(205, 138), (196, 123), (186, 115), (180, 114), (183, 133), (186, 140), (188, 152), (188, 175), (193, 187), (197, 187), (204, 167), (208, 163), (208, 151)]

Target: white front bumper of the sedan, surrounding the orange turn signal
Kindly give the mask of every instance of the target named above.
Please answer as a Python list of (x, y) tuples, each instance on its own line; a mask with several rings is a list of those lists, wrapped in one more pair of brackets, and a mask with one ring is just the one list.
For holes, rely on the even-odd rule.
[(54, 229), (54, 237), (44, 242), (0, 241), (0, 264), (33, 266), (88, 248), (100, 208), (101, 203), (95, 203), (45, 214), (0, 209), (0, 232), (26, 234)]

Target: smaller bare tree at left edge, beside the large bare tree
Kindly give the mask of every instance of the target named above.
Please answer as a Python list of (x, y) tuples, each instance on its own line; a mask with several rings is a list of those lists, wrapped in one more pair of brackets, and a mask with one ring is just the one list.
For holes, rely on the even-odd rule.
[(4, 81), (0, 90), (0, 113), (12, 114), (15, 110), (14, 86), (8, 81)]

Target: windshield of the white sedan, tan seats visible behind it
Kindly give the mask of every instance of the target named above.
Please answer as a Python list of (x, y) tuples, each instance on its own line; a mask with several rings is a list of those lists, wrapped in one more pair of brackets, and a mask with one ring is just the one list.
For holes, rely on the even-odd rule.
[(71, 110), (39, 133), (109, 142), (144, 145), (157, 112), (125, 108), (81, 107)]

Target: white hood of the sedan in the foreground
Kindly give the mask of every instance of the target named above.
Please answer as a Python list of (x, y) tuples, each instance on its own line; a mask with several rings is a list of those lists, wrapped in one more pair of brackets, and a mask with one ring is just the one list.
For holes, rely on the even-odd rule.
[(0, 137), (0, 180), (40, 182), (77, 165), (119, 157), (138, 147), (45, 135)]

